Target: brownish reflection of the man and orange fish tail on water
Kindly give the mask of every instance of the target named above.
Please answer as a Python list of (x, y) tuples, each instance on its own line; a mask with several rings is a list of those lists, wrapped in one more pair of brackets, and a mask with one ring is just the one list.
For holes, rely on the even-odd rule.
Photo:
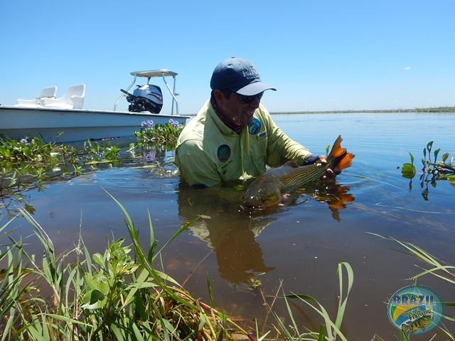
[[(346, 186), (311, 185), (296, 193), (286, 205), (295, 205), (308, 198), (326, 202), (333, 219), (339, 221), (338, 210), (354, 200)], [(213, 248), (218, 261), (220, 276), (235, 288), (250, 288), (256, 276), (275, 269), (264, 264), (262, 249), (255, 237), (267, 225), (277, 220), (270, 211), (245, 212), (241, 209), (243, 191), (233, 187), (194, 189), (181, 183), (178, 190), (178, 214), (183, 220), (191, 221), (193, 234)], [(304, 207), (302, 207), (304, 209)], [(273, 212), (273, 211), (272, 211)]]

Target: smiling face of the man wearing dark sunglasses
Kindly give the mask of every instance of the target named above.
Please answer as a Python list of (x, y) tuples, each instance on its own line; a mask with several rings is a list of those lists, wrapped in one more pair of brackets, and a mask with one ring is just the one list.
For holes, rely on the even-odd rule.
[(226, 94), (220, 90), (215, 90), (215, 99), (218, 109), (226, 119), (237, 126), (239, 130), (244, 129), (253, 119), (255, 110), (259, 107), (262, 93), (256, 96), (242, 96), (235, 92)]

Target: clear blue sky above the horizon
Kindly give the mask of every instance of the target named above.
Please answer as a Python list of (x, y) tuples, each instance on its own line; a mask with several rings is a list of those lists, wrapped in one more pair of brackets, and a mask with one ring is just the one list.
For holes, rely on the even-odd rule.
[(15, 0), (0, 13), (0, 104), (85, 83), (85, 109), (112, 109), (129, 72), (165, 68), (194, 114), (236, 55), (277, 88), (270, 112), (455, 106), (453, 0)]

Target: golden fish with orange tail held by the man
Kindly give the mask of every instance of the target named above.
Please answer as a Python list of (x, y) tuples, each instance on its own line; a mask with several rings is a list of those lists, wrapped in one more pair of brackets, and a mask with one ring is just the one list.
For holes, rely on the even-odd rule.
[(327, 168), (344, 169), (350, 167), (354, 158), (346, 148), (341, 147), (341, 135), (338, 136), (327, 156), (327, 163), (317, 161), (308, 166), (299, 166), (297, 161), (289, 161), (259, 175), (248, 188), (243, 201), (244, 207), (266, 208), (282, 202), (283, 195), (290, 193), (306, 183), (320, 180)]

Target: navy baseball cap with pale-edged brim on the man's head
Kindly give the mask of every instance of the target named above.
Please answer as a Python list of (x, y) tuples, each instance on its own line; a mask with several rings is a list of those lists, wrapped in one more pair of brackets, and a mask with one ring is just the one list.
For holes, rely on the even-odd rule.
[(210, 88), (229, 89), (245, 96), (254, 96), (265, 90), (277, 90), (261, 82), (259, 72), (250, 60), (237, 57), (223, 60), (215, 67)]

